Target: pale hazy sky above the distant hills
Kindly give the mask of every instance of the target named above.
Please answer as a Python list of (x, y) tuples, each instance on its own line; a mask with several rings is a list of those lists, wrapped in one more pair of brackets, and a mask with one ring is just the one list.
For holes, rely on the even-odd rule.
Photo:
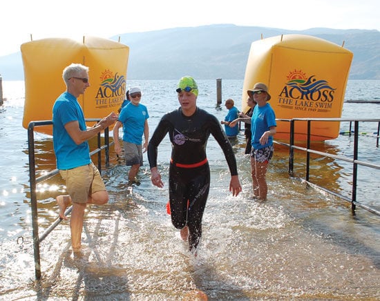
[[(126, 32), (232, 23), (304, 30), (380, 30), (379, 0), (6, 0), (0, 4), (0, 56), (48, 37), (108, 38)], [(186, 37), (184, 37), (186, 38)]]

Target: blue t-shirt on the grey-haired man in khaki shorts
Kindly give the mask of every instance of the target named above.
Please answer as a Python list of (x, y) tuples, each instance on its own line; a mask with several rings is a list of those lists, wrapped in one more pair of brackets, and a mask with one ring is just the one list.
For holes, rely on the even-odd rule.
[(88, 142), (75, 144), (68, 135), (65, 124), (77, 121), (81, 130), (86, 130), (83, 110), (77, 98), (64, 92), (53, 106), (53, 146), (57, 158), (57, 168), (61, 170), (84, 166), (91, 163)]

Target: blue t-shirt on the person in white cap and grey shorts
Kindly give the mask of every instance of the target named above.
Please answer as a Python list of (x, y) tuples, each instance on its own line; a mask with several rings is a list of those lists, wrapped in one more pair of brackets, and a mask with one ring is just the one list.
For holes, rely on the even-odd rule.
[(123, 124), (123, 141), (141, 144), (145, 120), (148, 118), (148, 110), (143, 104), (135, 106), (130, 102), (124, 106), (118, 119)]

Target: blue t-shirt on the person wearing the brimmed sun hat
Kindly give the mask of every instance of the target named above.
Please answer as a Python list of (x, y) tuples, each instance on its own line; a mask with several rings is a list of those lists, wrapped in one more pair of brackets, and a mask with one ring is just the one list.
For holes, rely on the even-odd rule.
[(263, 133), (269, 130), (271, 126), (277, 126), (276, 116), (274, 115), (272, 107), (268, 103), (261, 107), (255, 106), (251, 118), (251, 145), (253, 148), (260, 149), (273, 144), (273, 136), (269, 136), (267, 144), (260, 144), (261, 136), (263, 136)]

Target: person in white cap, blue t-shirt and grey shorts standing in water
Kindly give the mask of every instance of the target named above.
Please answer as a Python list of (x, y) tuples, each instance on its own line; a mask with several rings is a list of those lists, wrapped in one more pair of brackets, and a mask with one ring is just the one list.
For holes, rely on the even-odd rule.
[[(140, 104), (141, 89), (133, 87), (129, 90), (129, 104), (122, 108), (119, 118), (113, 127), (115, 153), (120, 155), (122, 148), (119, 142), (119, 128), (123, 128), (123, 144), (126, 166), (131, 166), (128, 179), (130, 184), (137, 183), (136, 175), (143, 164), (142, 153), (146, 152), (149, 139), (148, 109)], [(144, 144), (142, 135), (144, 134)]]

